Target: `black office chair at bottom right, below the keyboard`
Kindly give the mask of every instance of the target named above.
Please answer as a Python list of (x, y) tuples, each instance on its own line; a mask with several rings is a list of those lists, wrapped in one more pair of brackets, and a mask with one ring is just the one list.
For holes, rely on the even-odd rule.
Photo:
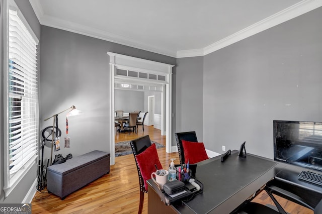
[[(284, 208), (280, 205), (280, 203), (276, 200), (273, 194), (283, 197), (287, 200), (293, 201), (294, 203), (300, 204), (305, 206), (314, 211), (315, 214), (322, 213), (322, 198), (315, 198), (312, 202), (307, 202), (305, 199), (301, 198), (298, 193), (302, 193), (300, 191), (296, 191), (296, 187), (292, 186), (291, 184), (286, 184), (284, 182), (279, 182), (277, 180), (269, 181), (264, 190), (273, 200), (276, 208), (270, 208), (266, 205), (251, 202), (250, 200), (246, 201), (240, 207), (234, 211), (234, 214), (255, 214), (255, 213), (282, 213), (282, 214), (289, 214), (284, 210)], [(289, 191), (288, 191), (289, 190)], [(305, 193), (304, 193), (305, 194)]]

